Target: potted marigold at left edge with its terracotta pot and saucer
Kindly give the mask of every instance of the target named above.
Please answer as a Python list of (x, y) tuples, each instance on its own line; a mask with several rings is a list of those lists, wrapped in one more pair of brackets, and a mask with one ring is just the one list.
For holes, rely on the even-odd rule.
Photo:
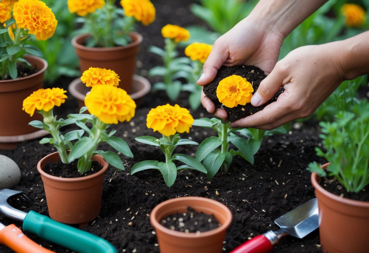
[(27, 42), (52, 37), (58, 21), (39, 0), (1, 1), (0, 13), (0, 107), (8, 108), (0, 112), (0, 142), (12, 148), (12, 142), (47, 134), (28, 126), (20, 105), (28, 94), (42, 88), (47, 68), (41, 51)]

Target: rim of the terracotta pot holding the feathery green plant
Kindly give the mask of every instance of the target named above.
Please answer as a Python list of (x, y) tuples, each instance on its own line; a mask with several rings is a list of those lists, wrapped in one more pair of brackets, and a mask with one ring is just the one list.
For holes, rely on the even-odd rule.
[[(330, 165), (330, 163), (325, 163), (323, 164), (321, 167), (323, 169), (325, 169), (328, 165)], [(369, 208), (369, 202), (365, 202), (365, 201), (359, 201), (359, 200), (351, 200), (349, 198), (340, 198), (339, 196), (330, 193), (329, 191), (325, 190), (319, 183), (318, 181), (320, 181), (320, 177), (318, 176), (318, 174), (316, 172), (311, 173), (311, 184), (313, 185), (313, 187), (315, 188), (315, 190), (318, 190), (321, 194), (324, 194), (325, 197), (330, 198), (334, 201), (337, 202), (341, 202), (344, 203), (346, 205), (351, 205), (351, 206), (355, 206), (355, 207), (366, 207)]]

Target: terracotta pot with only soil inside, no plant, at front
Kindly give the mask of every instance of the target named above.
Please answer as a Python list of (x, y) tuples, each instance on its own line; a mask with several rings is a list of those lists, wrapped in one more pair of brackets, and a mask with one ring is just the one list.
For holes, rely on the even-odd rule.
[[(187, 207), (197, 212), (213, 214), (221, 223), (216, 229), (196, 233), (184, 233), (165, 228), (160, 221), (176, 212), (187, 212)], [(203, 197), (180, 197), (164, 201), (152, 209), (151, 225), (158, 237), (161, 253), (220, 253), (222, 252), (225, 232), (232, 221), (232, 213), (218, 201)]]

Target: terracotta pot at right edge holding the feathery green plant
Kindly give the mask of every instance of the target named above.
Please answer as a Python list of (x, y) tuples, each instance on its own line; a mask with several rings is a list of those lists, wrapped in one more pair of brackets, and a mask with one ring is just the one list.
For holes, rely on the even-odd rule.
[[(323, 164), (326, 168), (329, 163)], [(340, 198), (318, 183), (317, 173), (311, 174), (319, 208), (319, 235), (325, 253), (368, 253), (369, 202)]]

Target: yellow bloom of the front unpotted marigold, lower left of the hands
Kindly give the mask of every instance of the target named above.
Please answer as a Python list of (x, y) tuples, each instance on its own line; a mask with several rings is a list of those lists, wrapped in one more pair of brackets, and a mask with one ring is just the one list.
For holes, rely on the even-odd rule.
[(152, 108), (146, 118), (146, 126), (159, 133), (170, 136), (179, 133), (189, 133), (194, 120), (189, 110), (179, 105), (159, 105)]

